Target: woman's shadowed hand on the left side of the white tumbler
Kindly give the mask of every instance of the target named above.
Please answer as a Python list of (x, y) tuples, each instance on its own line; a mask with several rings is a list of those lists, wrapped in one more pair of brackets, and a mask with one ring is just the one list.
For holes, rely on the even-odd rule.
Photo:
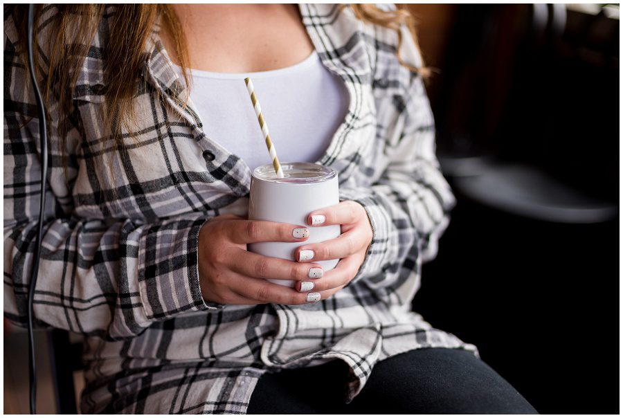
[[(322, 277), (320, 264), (264, 257), (246, 250), (246, 244), (253, 242), (303, 243), (307, 237), (309, 229), (301, 225), (250, 221), (235, 215), (210, 219), (199, 232), (201, 296), (206, 302), (223, 305), (303, 305), (328, 298), (338, 289), (320, 293), (300, 290), (303, 280)], [(267, 278), (297, 283), (292, 289), (264, 280)]]

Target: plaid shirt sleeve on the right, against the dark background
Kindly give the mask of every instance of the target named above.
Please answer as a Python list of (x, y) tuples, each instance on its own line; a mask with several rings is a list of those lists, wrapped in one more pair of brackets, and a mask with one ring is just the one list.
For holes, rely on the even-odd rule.
[[(417, 47), (403, 28), (401, 57), (421, 65)], [(455, 198), (435, 156), (433, 113), (422, 77), (412, 73), (403, 97), (395, 100), (403, 127), (388, 149), (386, 169), (370, 188), (341, 190), (341, 199), (360, 203), (372, 225), (372, 244), (353, 282), (387, 287), (402, 269), (417, 269), (437, 254)]]

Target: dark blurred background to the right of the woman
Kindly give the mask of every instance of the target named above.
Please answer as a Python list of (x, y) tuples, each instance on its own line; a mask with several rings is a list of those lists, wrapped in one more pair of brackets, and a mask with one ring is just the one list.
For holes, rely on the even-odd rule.
[(618, 5), (401, 7), (458, 199), (415, 311), (539, 412), (618, 413)]

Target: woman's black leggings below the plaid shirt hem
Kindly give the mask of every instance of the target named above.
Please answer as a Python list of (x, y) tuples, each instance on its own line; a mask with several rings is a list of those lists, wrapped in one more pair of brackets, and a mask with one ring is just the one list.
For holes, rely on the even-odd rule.
[(462, 349), (424, 348), (387, 358), (349, 404), (347, 365), (264, 374), (248, 414), (536, 414), (489, 365)]

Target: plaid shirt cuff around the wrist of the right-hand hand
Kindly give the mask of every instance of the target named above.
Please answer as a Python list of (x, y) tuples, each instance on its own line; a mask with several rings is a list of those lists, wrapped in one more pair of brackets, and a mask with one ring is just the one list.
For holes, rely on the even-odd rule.
[(372, 242), (368, 246), (368, 253), (365, 255), (359, 271), (351, 282), (356, 282), (360, 278), (374, 275), (382, 275), (383, 266), (386, 264), (388, 256), (390, 228), (392, 219), (381, 202), (377, 200), (369, 190), (343, 190), (340, 192), (341, 200), (352, 200), (359, 203), (368, 214), (370, 226), (372, 226)]

